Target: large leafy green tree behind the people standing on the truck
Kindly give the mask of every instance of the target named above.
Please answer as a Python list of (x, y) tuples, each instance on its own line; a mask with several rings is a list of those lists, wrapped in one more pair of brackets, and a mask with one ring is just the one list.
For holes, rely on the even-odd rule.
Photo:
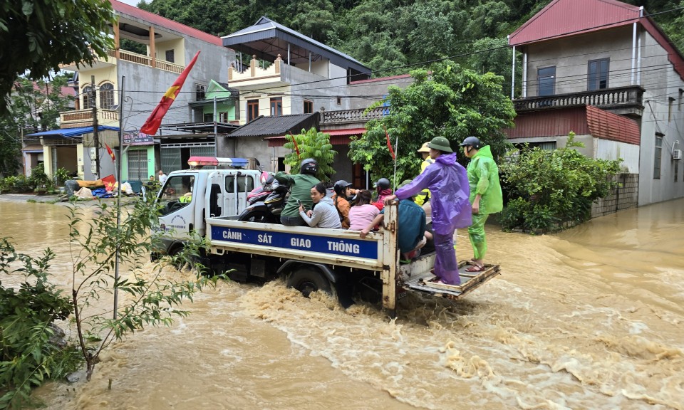
[(477, 74), (448, 61), (435, 64), (432, 75), (427, 70), (413, 70), (411, 75), (415, 80), (404, 90), (390, 87), (385, 99), (390, 103), (389, 115), (369, 121), (366, 134), (351, 142), (353, 162), (364, 164), (378, 177), (392, 175), (385, 130), (392, 144), (399, 139), (397, 181), (420, 173), (422, 159), (416, 150), (433, 137), (446, 137), (458, 151), (465, 137), (475, 135), (491, 145), (494, 157), (506, 152), (508, 143), (501, 130), (512, 127), (515, 111), (502, 93), (501, 77)]

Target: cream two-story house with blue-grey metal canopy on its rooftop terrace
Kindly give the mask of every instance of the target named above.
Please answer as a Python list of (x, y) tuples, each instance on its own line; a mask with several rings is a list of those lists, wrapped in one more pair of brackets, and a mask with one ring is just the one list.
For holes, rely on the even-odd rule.
[(219, 154), (256, 157), (266, 169), (284, 170), (285, 135), (316, 127), (331, 135), (338, 152), (334, 178), (366, 186), (361, 165), (348, 159), (349, 138), (383, 114), (379, 108), (365, 115), (366, 107), (381, 100), (389, 85), (407, 85), (410, 77), (371, 79), (371, 69), (351, 56), (266, 17), (223, 42), (246, 56), (228, 68), (244, 126), (219, 139)]

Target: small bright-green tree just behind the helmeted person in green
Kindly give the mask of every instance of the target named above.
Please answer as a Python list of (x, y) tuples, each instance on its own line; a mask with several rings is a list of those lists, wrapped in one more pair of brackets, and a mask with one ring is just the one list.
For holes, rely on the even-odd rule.
[[(301, 134), (286, 135), (285, 138), (287, 142), (284, 147), (291, 149), (292, 152), (285, 156), (284, 162), (291, 167), (293, 174), (299, 171), (299, 164), (302, 159), (313, 158), (318, 162), (316, 177), (321, 181), (330, 181), (331, 175), (335, 173), (331, 164), (337, 155), (337, 151), (333, 149), (333, 145), (330, 143), (330, 135), (318, 132), (316, 128), (311, 128), (309, 131), (301, 130)], [(297, 142), (299, 156), (294, 148), (292, 138)]]

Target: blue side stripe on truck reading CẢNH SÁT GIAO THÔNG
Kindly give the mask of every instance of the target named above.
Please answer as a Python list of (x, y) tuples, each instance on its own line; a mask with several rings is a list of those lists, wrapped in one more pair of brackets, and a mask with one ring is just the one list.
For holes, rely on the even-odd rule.
[(212, 226), (212, 240), (268, 245), (274, 248), (356, 256), (357, 258), (378, 258), (378, 243), (361, 239)]

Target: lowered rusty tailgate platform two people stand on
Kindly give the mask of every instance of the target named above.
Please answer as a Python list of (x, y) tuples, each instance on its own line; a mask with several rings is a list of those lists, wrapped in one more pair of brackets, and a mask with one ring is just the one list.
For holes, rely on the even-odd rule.
[[(429, 261), (425, 262), (429, 263)], [(432, 262), (434, 263), (434, 261)], [(427, 273), (411, 275), (408, 280), (404, 280), (403, 288), (457, 300), (478, 288), (482, 283), (500, 274), (499, 265), (485, 263), (484, 268), (486, 269), (482, 272), (466, 272), (465, 270), (468, 266), (470, 266), (468, 261), (460, 261), (458, 263), (458, 274), (461, 277), (460, 285), (445, 285), (432, 282), (431, 280), (436, 280), (436, 278), (428, 270)]]

